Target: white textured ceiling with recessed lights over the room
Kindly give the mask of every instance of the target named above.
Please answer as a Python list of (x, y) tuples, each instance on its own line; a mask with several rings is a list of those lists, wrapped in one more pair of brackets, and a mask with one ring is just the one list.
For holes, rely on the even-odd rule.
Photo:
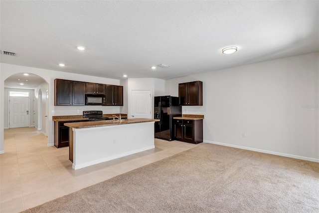
[[(1, 0), (0, 18), (1, 50), (16, 52), (0, 55), (2, 63), (115, 79), (169, 79), (319, 51), (318, 0)], [(238, 51), (221, 54), (227, 46)], [(150, 68), (160, 63), (170, 66)]]

